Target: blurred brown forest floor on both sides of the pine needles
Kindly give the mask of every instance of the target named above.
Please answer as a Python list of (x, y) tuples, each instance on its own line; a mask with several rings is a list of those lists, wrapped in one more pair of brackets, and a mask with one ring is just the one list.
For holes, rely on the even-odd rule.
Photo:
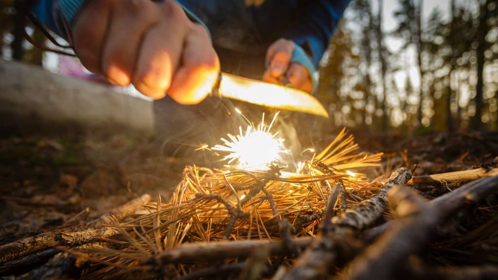
[[(414, 169), (414, 175), (425, 175), (497, 164), (498, 133), (436, 133), (410, 139), (352, 134), (362, 150), (384, 152), (386, 172), (401, 165)], [(143, 193), (161, 194), (166, 200), (184, 166), (195, 162), (160, 154), (155, 147), (120, 136), (106, 140), (0, 139), (0, 245), (59, 227), (87, 207), (86, 220), (91, 220)], [(450, 190), (433, 187), (419, 191), (433, 198)], [(458, 231), (472, 231), (497, 216), (494, 200), (486, 211), (469, 216)], [(476, 249), (458, 262), (493, 264), (480, 252)], [(450, 256), (440, 258), (441, 263), (457, 262), (450, 261)]]

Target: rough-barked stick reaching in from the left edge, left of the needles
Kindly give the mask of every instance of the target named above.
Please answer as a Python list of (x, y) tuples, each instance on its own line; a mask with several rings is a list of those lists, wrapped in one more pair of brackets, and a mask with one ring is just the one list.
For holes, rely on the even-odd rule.
[(81, 227), (74, 226), (65, 229), (64, 232), (61, 230), (49, 231), (2, 245), (0, 246), (0, 264), (55, 246), (83, 244), (95, 237), (109, 237), (111, 234), (116, 235), (117, 232), (114, 228), (95, 228), (110, 223), (110, 217), (112, 215), (123, 219), (124, 217), (133, 214), (142, 204), (147, 203), (149, 200), (150, 196), (148, 194), (137, 197), (122, 206), (115, 208), (110, 213), (102, 215), (100, 218), (88, 223), (87, 228), (90, 228), (88, 230), (79, 232), (78, 230), (80, 230)]

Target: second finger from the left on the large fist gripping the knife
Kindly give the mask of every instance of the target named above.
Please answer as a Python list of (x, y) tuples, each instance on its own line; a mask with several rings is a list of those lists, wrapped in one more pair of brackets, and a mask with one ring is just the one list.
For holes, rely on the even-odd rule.
[(142, 34), (158, 21), (157, 7), (150, 0), (125, 0), (115, 6), (101, 61), (104, 75), (113, 83), (131, 82)]

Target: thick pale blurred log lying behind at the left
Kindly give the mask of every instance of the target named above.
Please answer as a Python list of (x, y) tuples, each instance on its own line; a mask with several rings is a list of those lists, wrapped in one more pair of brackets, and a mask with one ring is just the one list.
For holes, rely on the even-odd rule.
[(152, 102), (112, 87), (0, 59), (2, 132), (21, 134), (126, 134), (144, 139), (154, 133)]

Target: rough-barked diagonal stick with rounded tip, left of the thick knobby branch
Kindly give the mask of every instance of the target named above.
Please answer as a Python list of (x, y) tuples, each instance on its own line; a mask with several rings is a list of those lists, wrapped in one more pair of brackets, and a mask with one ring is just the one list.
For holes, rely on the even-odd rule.
[[(362, 201), (354, 209), (348, 209), (339, 217), (332, 219), (334, 230), (324, 230), (315, 238), (303, 255), (297, 259), (294, 266), (284, 276), (286, 280), (304, 280), (324, 278), (329, 268), (337, 259), (340, 250), (338, 238), (344, 239), (355, 231), (360, 231), (371, 225), (387, 207), (387, 192), (396, 186), (404, 185), (411, 177), (408, 168), (401, 167), (394, 171), (379, 192), (373, 197)], [(324, 221), (326, 222), (326, 221)], [(344, 256), (343, 256), (344, 257)]]

